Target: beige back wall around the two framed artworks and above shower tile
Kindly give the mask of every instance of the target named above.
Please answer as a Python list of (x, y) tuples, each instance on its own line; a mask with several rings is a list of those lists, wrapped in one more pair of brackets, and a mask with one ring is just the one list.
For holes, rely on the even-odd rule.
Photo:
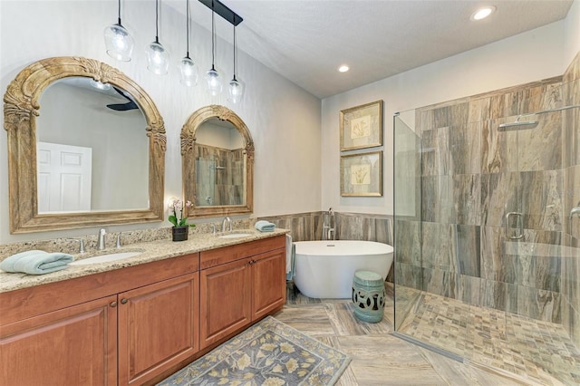
[[(564, 47), (565, 22), (556, 22), (324, 99), (322, 209), (391, 215), (395, 112), (562, 75)], [(384, 102), (383, 197), (341, 198), (339, 111), (376, 100)]]

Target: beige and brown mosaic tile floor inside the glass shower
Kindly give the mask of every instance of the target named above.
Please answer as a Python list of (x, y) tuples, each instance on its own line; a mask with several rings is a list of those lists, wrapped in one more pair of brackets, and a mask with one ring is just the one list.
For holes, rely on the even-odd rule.
[(400, 333), (471, 362), (546, 384), (554, 379), (565, 385), (580, 384), (580, 350), (560, 324), (411, 289), (397, 289), (396, 298), (400, 295), (410, 307)]

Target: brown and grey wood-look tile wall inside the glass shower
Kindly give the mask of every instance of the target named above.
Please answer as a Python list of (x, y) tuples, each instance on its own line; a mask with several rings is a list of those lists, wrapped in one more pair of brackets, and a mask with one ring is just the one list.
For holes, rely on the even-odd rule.
[(398, 283), (568, 323), (568, 331), (578, 334), (577, 259), (517, 250), (505, 243), (504, 228), (507, 212), (519, 211), (527, 242), (577, 243), (578, 231), (567, 234), (565, 226), (568, 201), (580, 194), (578, 110), (537, 116), (530, 130), (498, 131), (518, 114), (577, 103), (578, 76), (568, 73), (578, 67), (571, 65), (564, 78), (416, 111), (421, 220), (395, 224), (397, 249), (407, 251), (397, 256)]

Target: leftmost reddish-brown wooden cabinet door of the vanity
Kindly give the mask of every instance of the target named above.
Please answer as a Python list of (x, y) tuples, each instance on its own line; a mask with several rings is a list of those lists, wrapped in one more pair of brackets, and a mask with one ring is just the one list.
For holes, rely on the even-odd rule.
[(116, 300), (109, 296), (0, 327), (0, 383), (116, 385)]

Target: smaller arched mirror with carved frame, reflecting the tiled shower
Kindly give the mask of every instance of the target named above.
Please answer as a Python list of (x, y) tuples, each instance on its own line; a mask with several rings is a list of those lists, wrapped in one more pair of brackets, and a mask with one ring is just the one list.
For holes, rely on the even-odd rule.
[(183, 197), (190, 217), (251, 213), (254, 141), (246, 123), (225, 106), (195, 111), (181, 129)]

